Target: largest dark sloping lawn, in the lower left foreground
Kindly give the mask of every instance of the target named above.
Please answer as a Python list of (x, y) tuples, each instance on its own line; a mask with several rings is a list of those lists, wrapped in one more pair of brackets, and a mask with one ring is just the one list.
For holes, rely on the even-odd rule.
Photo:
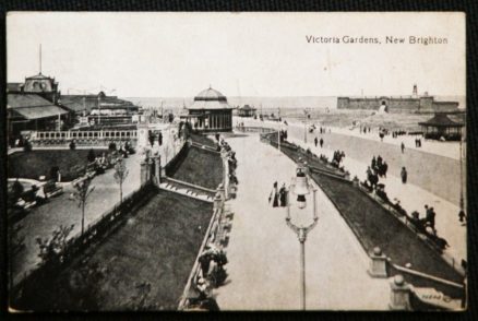
[[(210, 203), (158, 191), (103, 243), (38, 287), (28, 308), (176, 310), (212, 214)], [(86, 274), (82, 290), (72, 290), (85, 270), (103, 276)]]

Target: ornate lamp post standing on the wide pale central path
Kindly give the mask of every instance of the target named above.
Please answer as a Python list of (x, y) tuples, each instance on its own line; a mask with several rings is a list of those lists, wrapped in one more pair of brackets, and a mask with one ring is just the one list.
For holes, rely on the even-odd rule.
[(307, 199), (306, 195), (310, 194), (312, 192), (312, 215), (313, 215), (313, 222), (309, 225), (304, 226), (302, 223), (299, 223), (299, 225), (296, 225), (291, 222), (290, 216), (290, 198), (287, 202), (287, 216), (286, 216), (286, 224), (290, 229), (292, 229), (297, 237), (299, 238), (300, 242), (300, 286), (301, 286), (301, 304), (302, 304), (302, 310), (306, 310), (306, 240), (307, 235), (315, 227), (315, 225), (319, 222), (319, 216), (316, 213), (316, 188), (314, 185), (310, 181), (309, 177), (306, 175), (306, 165), (300, 165), (297, 167), (296, 177), (292, 178), (292, 181), (289, 187), (289, 191), (297, 195), (296, 205), (298, 207), (299, 214), (303, 216), (306, 213), (304, 209), (307, 207)]

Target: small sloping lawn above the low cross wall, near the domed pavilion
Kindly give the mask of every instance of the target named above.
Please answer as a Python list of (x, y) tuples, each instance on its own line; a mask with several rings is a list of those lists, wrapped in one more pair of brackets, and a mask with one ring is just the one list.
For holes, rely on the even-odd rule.
[(223, 160), (217, 153), (191, 146), (168, 175), (174, 179), (216, 189), (223, 181)]

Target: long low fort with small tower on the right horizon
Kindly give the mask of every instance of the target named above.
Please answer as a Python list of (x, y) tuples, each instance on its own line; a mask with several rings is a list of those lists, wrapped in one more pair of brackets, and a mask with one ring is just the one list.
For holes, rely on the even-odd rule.
[(453, 112), (458, 110), (457, 102), (440, 102), (427, 93), (419, 96), (414, 85), (411, 96), (337, 97), (338, 109), (379, 110), (385, 106), (387, 112)]

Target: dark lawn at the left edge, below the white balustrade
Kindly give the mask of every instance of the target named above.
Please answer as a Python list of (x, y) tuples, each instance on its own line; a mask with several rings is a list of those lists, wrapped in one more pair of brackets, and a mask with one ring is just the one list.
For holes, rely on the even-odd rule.
[[(9, 178), (32, 178), (40, 176), (49, 178), (50, 169), (58, 166), (62, 181), (75, 179), (77, 169), (87, 164), (89, 150), (37, 150), (29, 153), (17, 152), (9, 155), (8, 170)], [(108, 153), (108, 150), (95, 150), (96, 155)]]

